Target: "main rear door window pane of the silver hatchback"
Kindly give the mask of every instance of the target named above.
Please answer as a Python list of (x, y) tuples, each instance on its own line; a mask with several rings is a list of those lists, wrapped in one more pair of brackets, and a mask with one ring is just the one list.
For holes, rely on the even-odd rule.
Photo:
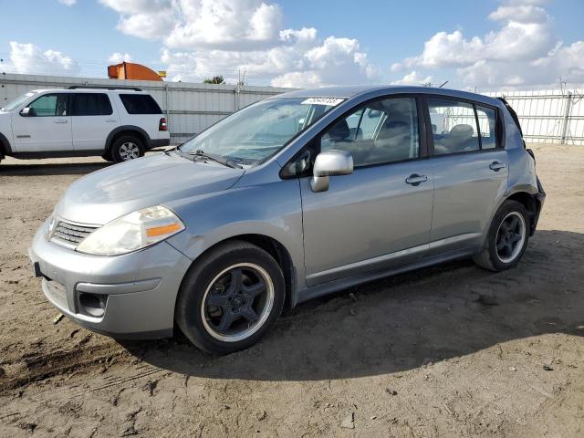
[(480, 149), (473, 105), (451, 99), (428, 99), (434, 155)]

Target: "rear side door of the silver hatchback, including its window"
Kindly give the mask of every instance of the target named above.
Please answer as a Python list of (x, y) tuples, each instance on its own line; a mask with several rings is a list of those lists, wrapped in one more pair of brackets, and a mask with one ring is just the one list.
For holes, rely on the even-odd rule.
[(496, 107), (446, 97), (425, 99), (434, 178), (429, 255), (482, 243), (506, 193), (508, 162)]

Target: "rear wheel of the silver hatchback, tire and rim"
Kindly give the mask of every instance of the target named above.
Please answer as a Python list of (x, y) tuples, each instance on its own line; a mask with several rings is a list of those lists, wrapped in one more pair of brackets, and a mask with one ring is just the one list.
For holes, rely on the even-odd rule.
[(495, 214), (485, 246), (473, 256), (474, 263), (495, 272), (516, 266), (526, 251), (529, 229), (529, 214), (523, 204), (506, 201)]

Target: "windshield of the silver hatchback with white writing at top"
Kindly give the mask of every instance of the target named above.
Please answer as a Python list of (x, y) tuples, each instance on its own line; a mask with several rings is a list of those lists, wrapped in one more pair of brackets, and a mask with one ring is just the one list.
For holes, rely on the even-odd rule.
[(256, 102), (215, 123), (179, 147), (179, 151), (255, 165), (339, 105), (338, 98), (276, 98)]

